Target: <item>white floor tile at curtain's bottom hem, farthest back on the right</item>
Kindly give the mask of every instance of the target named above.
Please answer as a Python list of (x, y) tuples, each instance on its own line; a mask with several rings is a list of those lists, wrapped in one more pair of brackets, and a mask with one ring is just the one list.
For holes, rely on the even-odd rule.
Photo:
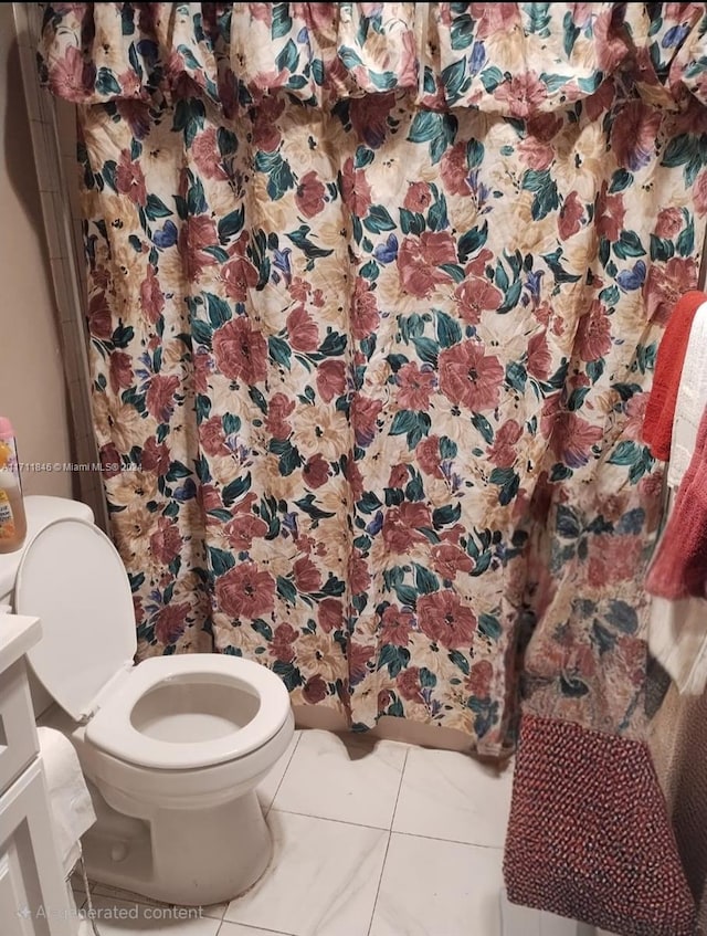
[(394, 832), (502, 848), (511, 774), (466, 754), (412, 747), (393, 819)]

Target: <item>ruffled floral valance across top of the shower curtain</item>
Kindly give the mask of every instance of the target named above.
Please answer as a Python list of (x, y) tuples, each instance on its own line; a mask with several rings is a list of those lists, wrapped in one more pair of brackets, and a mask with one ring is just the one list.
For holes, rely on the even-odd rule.
[(528, 118), (625, 74), (654, 105), (707, 103), (706, 33), (705, 3), (54, 3), (40, 71), (80, 104), (159, 91), (231, 113), (404, 92)]

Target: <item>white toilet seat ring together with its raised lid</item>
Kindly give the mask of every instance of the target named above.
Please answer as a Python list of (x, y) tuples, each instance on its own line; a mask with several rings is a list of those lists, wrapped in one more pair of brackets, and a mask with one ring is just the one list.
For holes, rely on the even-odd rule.
[[(28, 653), (40, 682), (75, 722), (87, 723), (92, 746), (125, 764), (155, 770), (224, 764), (266, 745), (287, 721), (287, 690), (260, 663), (198, 653), (134, 665), (128, 577), (113, 543), (86, 520), (59, 519), (36, 534), (20, 561), (15, 607), (41, 618), (42, 640)], [(172, 684), (200, 702), (215, 698), (215, 708), (212, 698), (201, 709), (187, 703), (180, 713), (188, 726), (201, 718), (210, 738), (201, 740), (197, 729), (197, 739), (166, 740), (134, 724), (140, 702)], [(170, 717), (165, 703), (150, 708), (161, 722)]]

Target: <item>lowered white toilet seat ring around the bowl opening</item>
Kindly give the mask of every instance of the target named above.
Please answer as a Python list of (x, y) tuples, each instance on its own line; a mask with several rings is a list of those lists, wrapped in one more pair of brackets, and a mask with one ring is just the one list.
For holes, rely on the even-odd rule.
[[(135, 706), (160, 685), (180, 677), (221, 677), (233, 688), (256, 693), (260, 706), (247, 724), (230, 734), (202, 742), (159, 740), (130, 721)], [(239, 656), (189, 654), (154, 656), (131, 670), (114, 686), (86, 727), (86, 739), (119, 760), (157, 770), (190, 770), (236, 760), (267, 744), (289, 714), (284, 683), (265, 666)]]

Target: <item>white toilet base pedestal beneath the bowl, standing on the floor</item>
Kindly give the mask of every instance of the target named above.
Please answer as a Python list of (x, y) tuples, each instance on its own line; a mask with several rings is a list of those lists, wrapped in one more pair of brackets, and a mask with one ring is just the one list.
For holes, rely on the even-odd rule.
[(149, 821), (112, 809), (95, 787), (92, 796), (97, 822), (83, 839), (84, 861), (88, 876), (102, 884), (163, 903), (208, 906), (247, 891), (272, 858), (254, 790), (204, 810), (157, 809)]

